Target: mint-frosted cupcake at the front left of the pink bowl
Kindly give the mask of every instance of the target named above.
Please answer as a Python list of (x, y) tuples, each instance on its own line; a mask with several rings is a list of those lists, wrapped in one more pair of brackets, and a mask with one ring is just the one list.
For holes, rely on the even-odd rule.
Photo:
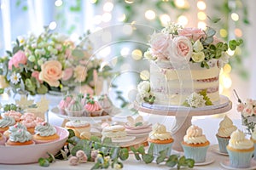
[(12, 145), (12, 146), (28, 145), (28, 144), (34, 144), (34, 141), (32, 140), (32, 134), (22, 128), (20, 128), (19, 130), (13, 133), (10, 133), (9, 139), (5, 143), (5, 145)]

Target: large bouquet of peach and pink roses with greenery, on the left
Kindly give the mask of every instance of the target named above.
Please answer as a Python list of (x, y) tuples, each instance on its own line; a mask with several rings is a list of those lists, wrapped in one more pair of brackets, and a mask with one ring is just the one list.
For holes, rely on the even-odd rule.
[(88, 93), (95, 93), (96, 81), (102, 81), (110, 68), (101, 68), (102, 60), (91, 57), (93, 47), (86, 36), (75, 44), (45, 27), (38, 36), (18, 37), (12, 51), (0, 59), (0, 82), (23, 94), (63, 92), (83, 85)]

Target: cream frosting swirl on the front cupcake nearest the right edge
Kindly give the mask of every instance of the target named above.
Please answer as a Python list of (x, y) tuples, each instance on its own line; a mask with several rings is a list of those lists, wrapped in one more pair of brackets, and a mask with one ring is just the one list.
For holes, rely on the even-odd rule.
[(229, 146), (236, 150), (247, 150), (253, 147), (253, 141), (246, 139), (245, 134), (237, 129), (230, 136)]

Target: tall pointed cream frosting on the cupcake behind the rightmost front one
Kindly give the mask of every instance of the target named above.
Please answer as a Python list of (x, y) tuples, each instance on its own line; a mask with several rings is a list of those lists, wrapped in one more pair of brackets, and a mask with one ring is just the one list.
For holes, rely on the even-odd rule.
[(231, 133), (236, 131), (237, 127), (233, 125), (233, 122), (228, 116), (224, 116), (224, 119), (219, 123), (217, 135), (220, 137), (230, 137)]

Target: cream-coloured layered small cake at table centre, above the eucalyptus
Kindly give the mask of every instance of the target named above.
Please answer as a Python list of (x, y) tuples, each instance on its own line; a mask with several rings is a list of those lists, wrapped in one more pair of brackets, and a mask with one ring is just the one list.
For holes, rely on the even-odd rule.
[(122, 125), (113, 125), (102, 129), (102, 139), (111, 138), (113, 140), (125, 139), (125, 127)]

